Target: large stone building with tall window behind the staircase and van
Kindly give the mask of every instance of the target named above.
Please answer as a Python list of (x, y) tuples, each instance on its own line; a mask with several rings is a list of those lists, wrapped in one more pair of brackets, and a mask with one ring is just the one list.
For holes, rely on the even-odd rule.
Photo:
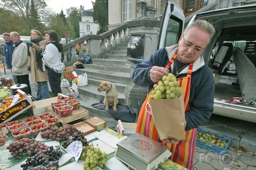
[[(216, 9), (226, 7), (252, 5), (256, 0), (172, 0), (179, 5), (185, 17), (197, 11), (204, 11), (207, 5), (217, 4)], [(166, 0), (108, 0), (108, 30), (120, 24), (146, 16), (152, 19), (161, 20)], [(208, 9), (212, 10), (212, 9)]]

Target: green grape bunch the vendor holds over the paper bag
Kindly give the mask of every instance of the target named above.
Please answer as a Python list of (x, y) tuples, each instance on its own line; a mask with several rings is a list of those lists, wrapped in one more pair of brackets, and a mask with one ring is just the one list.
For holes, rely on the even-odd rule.
[(155, 89), (150, 94), (151, 99), (172, 99), (183, 94), (182, 87), (179, 87), (179, 81), (172, 73), (164, 75), (162, 80), (154, 84), (154, 87)]

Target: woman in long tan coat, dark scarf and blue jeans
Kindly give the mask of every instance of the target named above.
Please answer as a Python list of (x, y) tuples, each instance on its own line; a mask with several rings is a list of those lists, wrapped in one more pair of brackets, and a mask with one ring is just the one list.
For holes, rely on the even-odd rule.
[(40, 52), (45, 49), (45, 41), (42, 34), (38, 30), (31, 30), (29, 47), (28, 71), (31, 71), (31, 81), (37, 82), (36, 100), (49, 98), (49, 87), (47, 72), (43, 70), (43, 61)]

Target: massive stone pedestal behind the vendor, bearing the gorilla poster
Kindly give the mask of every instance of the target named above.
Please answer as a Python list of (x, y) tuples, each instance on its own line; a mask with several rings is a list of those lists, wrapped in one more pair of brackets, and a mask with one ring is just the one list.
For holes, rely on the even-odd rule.
[[(161, 21), (149, 18), (127, 21), (130, 36), (145, 35), (144, 61), (156, 51), (160, 25)], [(134, 67), (131, 67), (131, 74), (133, 70)], [(141, 79), (143, 78), (144, 77), (141, 77)], [(141, 87), (131, 82), (125, 89), (126, 104), (132, 106), (137, 114), (146, 99), (147, 88), (148, 87)]]

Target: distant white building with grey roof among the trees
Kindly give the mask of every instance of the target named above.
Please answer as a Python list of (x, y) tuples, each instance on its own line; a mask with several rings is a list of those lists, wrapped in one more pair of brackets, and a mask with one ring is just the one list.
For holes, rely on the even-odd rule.
[(87, 34), (97, 34), (98, 24), (93, 23), (93, 9), (82, 11), (81, 21), (79, 21), (79, 37)]

